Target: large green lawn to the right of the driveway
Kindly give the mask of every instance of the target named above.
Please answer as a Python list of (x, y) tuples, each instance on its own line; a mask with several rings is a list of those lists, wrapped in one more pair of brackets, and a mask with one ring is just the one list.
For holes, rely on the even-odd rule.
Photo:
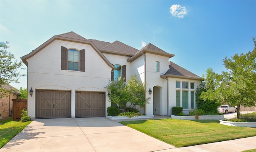
[(221, 125), (219, 120), (158, 119), (120, 123), (176, 147), (256, 136), (256, 128)]

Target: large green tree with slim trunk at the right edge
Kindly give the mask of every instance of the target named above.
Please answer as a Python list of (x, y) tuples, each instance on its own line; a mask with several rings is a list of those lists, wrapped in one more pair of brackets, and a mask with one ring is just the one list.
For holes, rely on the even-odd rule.
[(237, 118), (240, 118), (240, 105), (252, 107), (256, 103), (256, 41), (253, 51), (225, 57), (220, 89), (223, 100), (237, 105)]

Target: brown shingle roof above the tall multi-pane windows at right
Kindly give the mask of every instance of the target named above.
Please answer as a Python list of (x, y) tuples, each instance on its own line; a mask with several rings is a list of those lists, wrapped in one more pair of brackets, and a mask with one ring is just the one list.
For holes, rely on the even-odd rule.
[(182, 68), (181, 66), (178, 66), (174, 62), (169, 62), (169, 70), (162, 75), (161, 77), (164, 77), (166, 75), (172, 75), (172, 76), (181, 76), (181, 77), (188, 77), (188, 78), (194, 78), (197, 80), (202, 79), (200, 76), (197, 76), (196, 74)]

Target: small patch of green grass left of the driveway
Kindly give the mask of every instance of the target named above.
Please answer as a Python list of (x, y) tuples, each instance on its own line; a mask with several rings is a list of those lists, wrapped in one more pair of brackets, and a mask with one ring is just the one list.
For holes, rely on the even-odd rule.
[(9, 142), (16, 134), (20, 133), (32, 121), (22, 123), (21, 121), (12, 121), (12, 118), (1, 120), (0, 122), (0, 148)]

